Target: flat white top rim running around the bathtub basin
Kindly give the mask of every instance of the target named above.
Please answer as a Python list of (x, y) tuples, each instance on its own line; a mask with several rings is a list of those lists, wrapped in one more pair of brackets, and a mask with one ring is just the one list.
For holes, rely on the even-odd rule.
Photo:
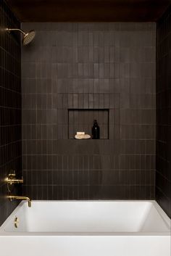
[[(27, 204), (25, 201), (21, 201), (19, 205), (14, 209), (14, 211), (9, 215), (9, 217), (2, 223), (0, 226), (0, 237), (1, 236), (171, 236), (171, 219), (169, 216), (162, 210), (162, 207), (159, 206), (156, 200), (33, 200), (34, 202), (41, 202), (41, 203), (47, 203), (47, 202), (60, 202), (60, 203), (71, 203), (72, 202), (150, 202), (152, 205), (154, 205), (155, 209), (161, 216), (162, 220), (166, 225), (169, 227), (170, 231), (164, 231), (164, 232), (25, 232), (25, 231), (19, 231), (19, 232), (12, 232), (12, 231), (5, 231), (4, 228), (11, 220), (11, 218), (14, 218), (14, 215), (17, 214), (17, 211), (24, 205)], [(29, 210), (29, 209), (28, 209)]]

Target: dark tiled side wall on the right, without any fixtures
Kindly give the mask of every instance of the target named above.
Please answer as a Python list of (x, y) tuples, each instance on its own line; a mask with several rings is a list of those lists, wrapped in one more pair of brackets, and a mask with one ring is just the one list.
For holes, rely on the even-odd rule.
[(171, 7), (157, 23), (156, 197), (171, 217)]

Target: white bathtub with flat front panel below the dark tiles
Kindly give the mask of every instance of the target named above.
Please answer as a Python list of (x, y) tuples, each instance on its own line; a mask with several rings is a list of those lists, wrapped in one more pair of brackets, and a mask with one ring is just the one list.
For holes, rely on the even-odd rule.
[(21, 202), (0, 228), (0, 255), (170, 256), (170, 218), (154, 201)]

